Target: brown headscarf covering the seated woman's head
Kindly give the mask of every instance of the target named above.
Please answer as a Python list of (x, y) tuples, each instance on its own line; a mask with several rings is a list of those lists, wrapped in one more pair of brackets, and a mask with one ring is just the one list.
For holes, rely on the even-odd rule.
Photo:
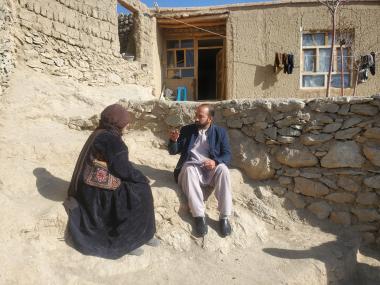
[(106, 107), (100, 114), (98, 129), (106, 129), (117, 135), (121, 135), (121, 130), (129, 123), (128, 111), (119, 104)]

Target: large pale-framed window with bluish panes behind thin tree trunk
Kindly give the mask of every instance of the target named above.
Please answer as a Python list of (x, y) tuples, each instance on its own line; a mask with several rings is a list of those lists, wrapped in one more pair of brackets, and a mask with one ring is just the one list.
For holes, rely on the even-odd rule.
[[(302, 35), (301, 86), (302, 88), (325, 88), (330, 64), (331, 33), (304, 33)], [(351, 86), (352, 60), (351, 50), (343, 46), (343, 82), (344, 88)], [(333, 52), (331, 87), (341, 87), (341, 50), (336, 39)]]

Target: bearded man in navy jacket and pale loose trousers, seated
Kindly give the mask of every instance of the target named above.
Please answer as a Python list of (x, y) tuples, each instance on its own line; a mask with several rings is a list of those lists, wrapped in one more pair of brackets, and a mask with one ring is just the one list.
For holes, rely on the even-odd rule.
[(208, 104), (198, 106), (195, 124), (170, 132), (169, 153), (181, 154), (174, 177), (186, 194), (199, 236), (207, 234), (205, 205), (201, 187), (215, 188), (220, 212), (220, 233), (231, 234), (228, 216), (232, 211), (231, 179), (227, 165), (231, 161), (228, 135), (212, 123), (214, 110)]

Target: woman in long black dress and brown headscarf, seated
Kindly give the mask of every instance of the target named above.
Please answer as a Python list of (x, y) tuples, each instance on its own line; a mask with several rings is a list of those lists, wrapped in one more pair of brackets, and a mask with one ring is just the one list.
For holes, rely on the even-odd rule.
[(140, 255), (142, 245), (158, 244), (149, 181), (121, 138), (128, 122), (121, 105), (105, 108), (74, 170), (64, 206), (74, 247), (86, 255)]

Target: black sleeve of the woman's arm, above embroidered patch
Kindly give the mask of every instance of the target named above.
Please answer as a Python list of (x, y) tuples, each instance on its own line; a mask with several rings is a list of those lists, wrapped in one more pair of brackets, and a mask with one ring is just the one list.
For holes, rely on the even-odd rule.
[(121, 138), (108, 135), (95, 141), (94, 147), (105, 157), (110, 172), (123, 181), (149, 183), (144, 174), (129, 161), (128, 148)]

